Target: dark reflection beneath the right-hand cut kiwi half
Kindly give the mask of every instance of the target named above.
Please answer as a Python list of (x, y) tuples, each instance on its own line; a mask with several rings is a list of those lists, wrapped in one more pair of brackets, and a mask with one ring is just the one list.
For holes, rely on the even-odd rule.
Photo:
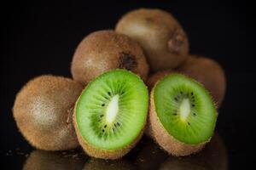
[(170, 156), (162, 163), (161, 170), (227, 170), (228, 155), (218, 134), (214, 134), (206, 148), (199, 154), (186, 157)]

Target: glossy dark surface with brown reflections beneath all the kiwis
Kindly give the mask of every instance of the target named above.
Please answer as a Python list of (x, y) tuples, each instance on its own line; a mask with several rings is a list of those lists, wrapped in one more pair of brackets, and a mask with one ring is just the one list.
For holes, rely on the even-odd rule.
[(59, 152), (31, 150), (24, 153), (12, 150), (8, 153), (7, 157), (14, 161), (9, 164), (8, 169), (23, 170), (227, 170), (229, 166), (228, 152), (218, 133), (215, 133), (212, 141), (201, 152), (185, 157), (169, 156), (146, 136), (131, 153), (117, 161), (90, 158), (80, 149)]

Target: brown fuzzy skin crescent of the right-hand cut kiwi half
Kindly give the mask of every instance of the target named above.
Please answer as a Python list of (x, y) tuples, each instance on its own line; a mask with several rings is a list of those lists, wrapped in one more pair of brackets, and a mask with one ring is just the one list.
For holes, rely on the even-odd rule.
[(154, 107), (154, 88), (150, 93), (149, 126), (154, 140), (172, 156), (189, 156), (200, 151), (206, 144), (184, 144), (170, 135), (160, 122)]

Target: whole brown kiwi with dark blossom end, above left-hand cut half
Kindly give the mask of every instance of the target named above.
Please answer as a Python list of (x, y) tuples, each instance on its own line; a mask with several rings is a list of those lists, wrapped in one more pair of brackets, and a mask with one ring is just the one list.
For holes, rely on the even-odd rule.
[(113, 69), (132, 71), (146, 81), (148, 63), (140, 45), (114, 31), (95, 31), (79, 43), (73, 54), (73, 79), (87, 84), (94, 77)]

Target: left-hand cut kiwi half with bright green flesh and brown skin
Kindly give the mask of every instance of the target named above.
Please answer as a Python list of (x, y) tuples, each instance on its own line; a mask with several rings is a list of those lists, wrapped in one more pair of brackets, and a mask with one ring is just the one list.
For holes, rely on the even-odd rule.
[(148, 89), (131, 71), (113, 70), (90, 82), (76, 105), (74, 125), (79, 143), (102, 159), (125, 156), (143, 135)]

